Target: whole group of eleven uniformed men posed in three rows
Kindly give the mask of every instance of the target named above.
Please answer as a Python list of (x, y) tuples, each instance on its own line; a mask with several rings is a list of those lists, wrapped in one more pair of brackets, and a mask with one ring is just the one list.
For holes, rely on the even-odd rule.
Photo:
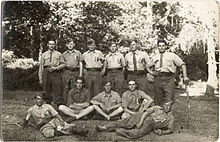
[[(109, 54), (104, 56), (96, 49), (93, 39), (87, 41), (88, 51), (83, 54), (75, 49), (75, 43), (72, 40), (68, 41), (67, 51), (63, 54), (55, 50), (53, 40), (48, 42), (48, 47), (48, 51), (41, 57), (39, 81), (43, 84), (45, 91), (42, 99), (47, 104), (53, 103), (57, 111), (74, 120), (87, 116), (94, 110), (106, 120), (113, 120), (115, 116), (120, 116), (121, 125), (116, 123), (109, 127), (98, 126), (98, 129), (139, 128), (118, 132), (129, 138), (142, 136), (155, 129), (155, 125), (156, 128), (163, 126), (169, 128), (169, 132), (173, 131), (174, 118), (170, 115), (170, 109), (163, 110), (166, 110), (164, 108), (167, 104), (171, 108), (174, 102), (173, 75), (176, 67), (182, 68), (185, 82), (189, 79), (184, 62), (176, 54), (166, 52), (167, 46), (164, 40), (158, 41), (159, 52), (151, 59), (147, 53), (138, 49), (136, 40), (131, 41), (130, 52), (125, 56), (117, 51), (116, 43), (110, 45)], [(147, 73), (154, 76), (153, 83), (149, 83)], [(126, 80), (128, 90), (125, 91)], [(41, 98), (41, 96), (38, 97)], [(34, 107), (35, 109), (29, 109), (25, 122), (30, 119), (30, 116), (37, 120), (36, 108), (42, 109), (42, 104), (36, 103)], [(46, 106), (43, 110), (49, 110), (51, 116), (56, 116), (64, 126), (62, 118), (55, 113), (56, 110), (51, 109)], [(43, 113), (43, 110), (40, 112)], [(150, 114), (152, 117), (147, 117)], [(167, 118), (170, 120), (168, 121)], [(50, 128), (53, 130), (49, 131), (49, 135), (47, 131), (45, 132), (45, 125), (40, 125), (43, 134), (47, 137), (56, 135), (54, 129), (60, 126), (51, 121), (49, 123), (54, 124), (51, 124), (53, 126)], [(65, 126), (71, 126), (71, 124)], [(161, 134), (162, 131), (159, 129), (155, 132)]]

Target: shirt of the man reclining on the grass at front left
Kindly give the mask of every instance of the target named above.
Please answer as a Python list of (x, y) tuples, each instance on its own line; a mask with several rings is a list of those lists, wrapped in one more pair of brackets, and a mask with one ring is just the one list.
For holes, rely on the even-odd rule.
[(28, 113), (31, 114), (37, 125), (44, 119), (52, 118), (58, 114), (58, 112), (49, 104), (43, 104), (41, 107), (34, 105), (28, 110)]

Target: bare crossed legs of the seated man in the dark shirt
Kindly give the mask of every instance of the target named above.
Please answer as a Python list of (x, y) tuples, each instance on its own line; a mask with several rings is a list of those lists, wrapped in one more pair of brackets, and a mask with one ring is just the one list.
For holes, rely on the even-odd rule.
[(93, 106), (88, 106), (87, 108), (81, 110), (74, 110), (65, 105), (60, 105), (59, 110), (68, 116), (74, 117), (76, 119), (80, 119), (83, 116), (86, 116), (89, 113), (91, 113), (94, 110), (94, 108)]

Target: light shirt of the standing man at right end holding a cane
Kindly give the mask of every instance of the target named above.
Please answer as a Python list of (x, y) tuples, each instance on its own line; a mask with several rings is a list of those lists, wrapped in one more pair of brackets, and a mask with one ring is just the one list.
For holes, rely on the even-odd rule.
[[(155, 65), (155, 69), (160, 69), (160, 54), (153, 56), (152, 59)], [(184, 64), (182, 59), (172, 52), (164, 52), (162, 61), (163, 63), (160, 72), (175, 73), (176, 66), (180, 67)]]

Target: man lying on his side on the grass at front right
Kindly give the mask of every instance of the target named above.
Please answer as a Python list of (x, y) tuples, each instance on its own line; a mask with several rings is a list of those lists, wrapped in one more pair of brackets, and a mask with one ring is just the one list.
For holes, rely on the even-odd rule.
[[(144, 112), (132, 115), (130, 118), (105, 126), (97, 126), (99, 131), (116, 131), (130, 139), (142, 137), (152, 131), (158, 135), (170, 134), (174, 131), (174, 117), (171, 111), (173, 102), (167, 102), (162, 107), (153, 106)], [(116, 128), (124, 128), (118, 129)]]

